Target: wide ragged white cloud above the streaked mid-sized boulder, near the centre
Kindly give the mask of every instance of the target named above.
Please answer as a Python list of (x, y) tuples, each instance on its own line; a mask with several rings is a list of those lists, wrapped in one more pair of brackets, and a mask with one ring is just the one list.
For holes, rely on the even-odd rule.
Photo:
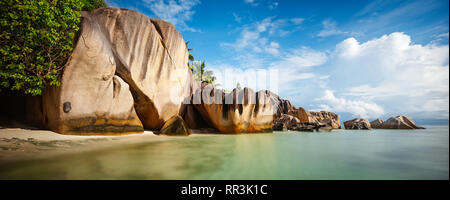
[[(278, 52), (278, 43), (271, 42), (268, 46), (277, 48)], [(252, 62), (254, 59), (245, 58), (245, 60)], [(257, 60), (259, 61), (259, 59)], [(283, 56), (273, 62), (256, 65), (243, 64), (242, 67), (213, 63), (208, 64), (208, 69), (213, 70), (214, 74), (220, 74), (217, 77), (217, 82), (228, 90), (233, 89), (239, 82), (243, 87), (256, 90), (269, 89), (276, 93), (283, 93), (298, 90), (298, 81), (308, 81), (315, 78), (316, 74), (311, 72), (310, 68), (322, 65), (326, 60), (325, 53), (301, 47), (293, 51), (283, 52)], [(266, 74), (256, 76), (255, 71), (264, 71)], [(269, 77), (272, 81), (269, 81)], [(320, 79), (326, 78), (320, 77)]]

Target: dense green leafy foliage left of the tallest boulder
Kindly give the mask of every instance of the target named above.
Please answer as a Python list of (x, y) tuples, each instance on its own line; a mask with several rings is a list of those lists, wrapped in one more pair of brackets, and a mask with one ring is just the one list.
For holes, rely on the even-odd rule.
[(0, 89), (40, 95), (48, 85), (59, 86), (79, 30), (79, 11), (104, 5), (101, 2), (0, 1)]

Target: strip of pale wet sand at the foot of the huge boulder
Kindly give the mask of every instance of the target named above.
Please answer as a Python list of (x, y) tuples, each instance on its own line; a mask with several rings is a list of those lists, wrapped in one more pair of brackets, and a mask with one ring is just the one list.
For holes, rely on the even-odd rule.
[[(206, 136), (194, 131), (189, 137)], [(151, 131), (120, 136), (76, 136), (61, 135), (49, 130), (29, 127), (0, 127), (0, 163), (20, 159), (40, 158), (63, 153), (76, 153), (120, 145), (187, 139), (183, 136), (155, 135)]]

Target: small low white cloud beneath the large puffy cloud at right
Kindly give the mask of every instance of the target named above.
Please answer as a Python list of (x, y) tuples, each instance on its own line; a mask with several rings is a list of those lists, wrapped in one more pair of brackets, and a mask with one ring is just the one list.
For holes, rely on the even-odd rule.
[(321, 110), (348, 112), (362, 118), (376, 118), (384, 114), (383, 108), (376, 103), (337, 98), (331, 90), (325, 90), (324, 95), (317, 100), (326, 103), (319, 105)]

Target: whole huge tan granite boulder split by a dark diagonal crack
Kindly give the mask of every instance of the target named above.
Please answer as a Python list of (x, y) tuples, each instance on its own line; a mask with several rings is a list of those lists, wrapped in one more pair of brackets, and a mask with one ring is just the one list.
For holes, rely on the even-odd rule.
[(63, 134), (159, 130), (192, 94), (187, 60), (166, 21), (112, 7), (82, 12), (61, 86), (44, 92), (39, 121)]

